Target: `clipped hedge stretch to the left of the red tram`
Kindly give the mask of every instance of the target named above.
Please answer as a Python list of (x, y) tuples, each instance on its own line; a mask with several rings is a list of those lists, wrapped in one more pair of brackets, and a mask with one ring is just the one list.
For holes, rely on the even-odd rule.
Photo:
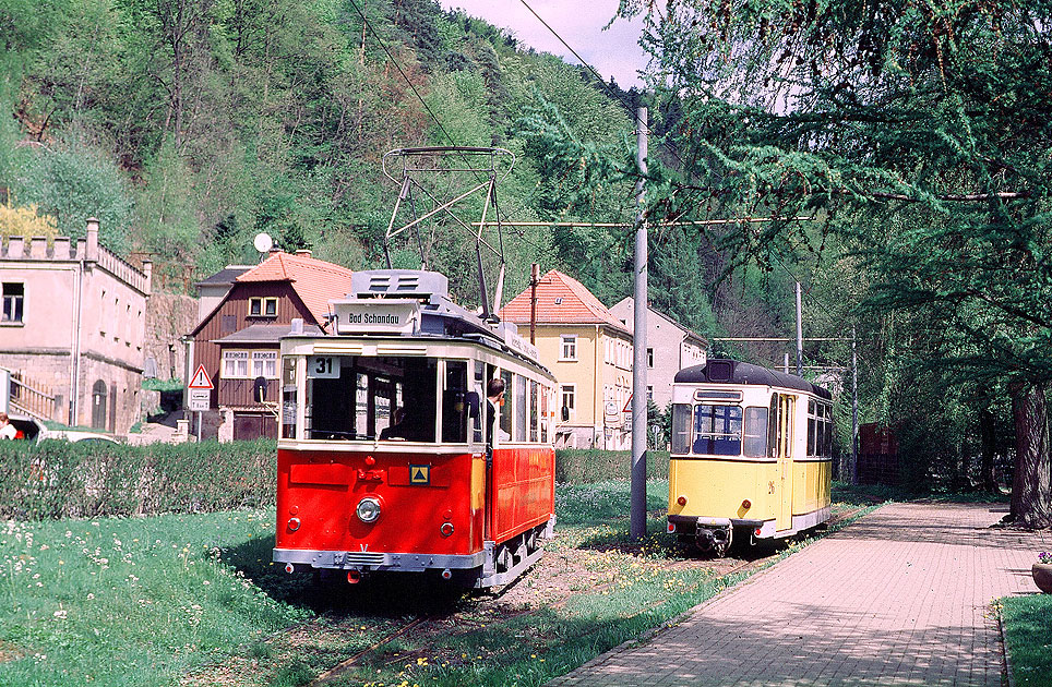
[(0, 518), (205, 513), (273, 504), (273, 441), (218, 444), (0, 442)]

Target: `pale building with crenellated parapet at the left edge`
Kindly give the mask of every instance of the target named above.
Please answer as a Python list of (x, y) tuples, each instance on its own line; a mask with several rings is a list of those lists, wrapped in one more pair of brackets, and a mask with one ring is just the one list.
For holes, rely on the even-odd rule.
[[(43, 388), (49, 420), (127, 434), (140, 420), (151, 263), (86, 240), (0, 242), (0, 366)], [(19, 412), (19, 399), (12, 411)]]

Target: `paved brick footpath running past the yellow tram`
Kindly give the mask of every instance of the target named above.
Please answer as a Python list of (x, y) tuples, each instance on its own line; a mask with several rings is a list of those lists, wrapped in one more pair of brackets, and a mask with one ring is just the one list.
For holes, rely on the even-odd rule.
[(992, 602), (1037, 592), (1048, 532), (991, 504), (888, 504), (552, 687), (1001, 687)]

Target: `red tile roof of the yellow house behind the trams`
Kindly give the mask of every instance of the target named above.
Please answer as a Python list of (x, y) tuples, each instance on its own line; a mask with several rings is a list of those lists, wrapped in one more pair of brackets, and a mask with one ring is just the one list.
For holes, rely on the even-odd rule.
[[(561, 302), (555, 303), (555, 299)], [(501, 318), (529, 324), (530, 289), (501, 309)], [(625, 325), (607, 310), (591, 291), (573, 277), (552, 269), (537, 281), (538, 324), (603, 324), (627, 333)]]

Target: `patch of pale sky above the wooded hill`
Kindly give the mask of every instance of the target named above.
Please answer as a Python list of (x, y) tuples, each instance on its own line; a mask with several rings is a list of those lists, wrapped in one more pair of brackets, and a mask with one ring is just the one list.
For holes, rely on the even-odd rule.
[[(622, 88), (641, 86), (636, 72), (646, 67), (638, 45), (642, 20), (618, 20), (602, 31), (614, 12), (618, 0), (527, 0), (534, 12), (570, 44), (605, 81), (613, 76)], [(507, 28), (521, 44), (539, 52), (551, 52), (576, 64), (574, 56), (559, 38), (534, 16), (521, 0), (441, 0), (442, 9), (462, 9), (494, 26)]]

